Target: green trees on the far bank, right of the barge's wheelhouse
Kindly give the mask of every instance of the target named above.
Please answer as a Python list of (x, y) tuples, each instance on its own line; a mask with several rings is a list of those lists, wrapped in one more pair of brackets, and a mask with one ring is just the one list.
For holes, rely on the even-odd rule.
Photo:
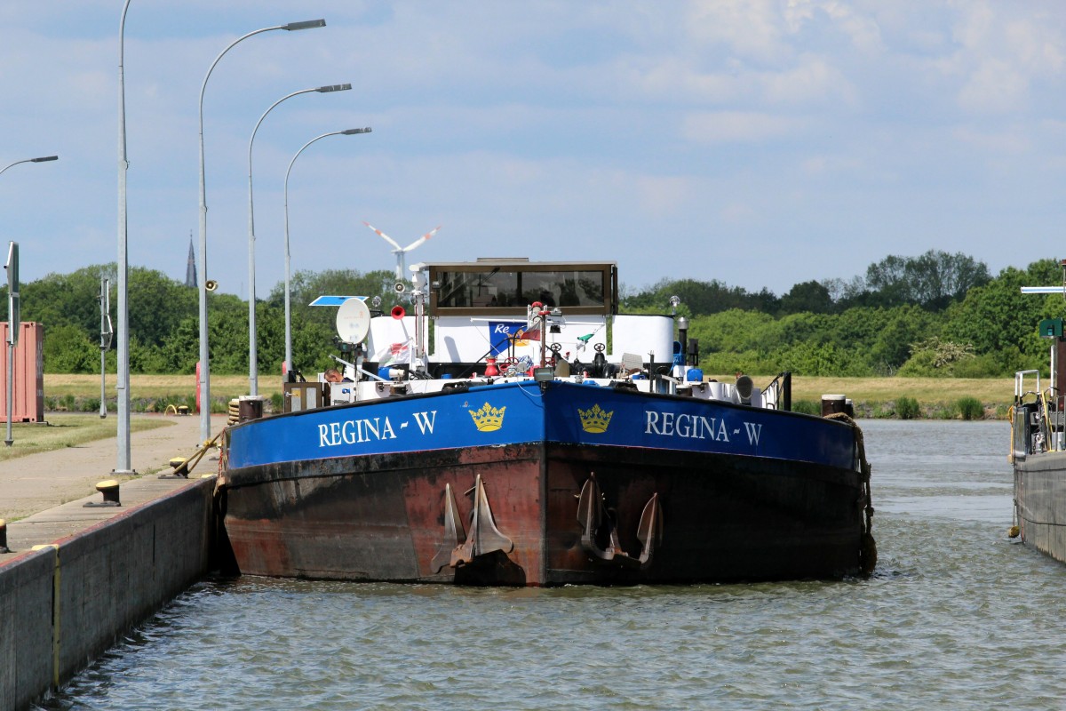
[(1037, 325), (1066, 316), (1066, 301), (1020, 288), (1062, 281), (1053, 259), (994, 277), (971, 257), (930, 251), (888, 256), (847, 280), (796, 284), (780, 297), (717, 280), (665, 279), (626, 290), (623, 304), (664, 312), (677, 295), (706, 372), (1000, 377), (1047, 371), (1049, 344)]

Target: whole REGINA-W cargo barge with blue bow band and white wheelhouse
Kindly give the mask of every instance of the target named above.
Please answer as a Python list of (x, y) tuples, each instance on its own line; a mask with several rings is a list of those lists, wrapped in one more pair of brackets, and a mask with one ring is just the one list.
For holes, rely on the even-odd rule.
[(225, 431), (241, 573), (547, 586), (873, 569), (843, 397), (809, 415), (791, 411), (789, 373), (706, 377), (676, 298), (618, 312), (614, 262), (410, 272), (406, 306), (319, 300), (337, 307), (339, 373), (286, 382), (286, 413)]

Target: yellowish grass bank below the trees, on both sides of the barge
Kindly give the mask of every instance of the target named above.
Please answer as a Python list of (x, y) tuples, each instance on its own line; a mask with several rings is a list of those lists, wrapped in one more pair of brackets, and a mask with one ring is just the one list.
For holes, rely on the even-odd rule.
[[(709, 375), (731, 383), (732, 375)], [(772, 375), (753, 375), (765, 387)], [(224, 413), (230, 400), (248, 392), (247, 375), (212, 375), (211, 409)], [(281, 379), (262, 377), (259, 393), (268, 398), (268, 407), (281, 403)], [(914, 401), (918, 416), (948, 419), (963, 417), (960, 401), (975, 400), (984, 417), (1004, 416), (1014, 399), (1013, 378), (932, 378), (932, 377), (792, 377), (792, 401), (796, 409), (819, 406), (823, 394), (840, 393), (855, 403), (859, 417), (898, 417), (902, 399)], [(115, 376), (104, 382), (108, 408), (115, 407)], [(130, 403), (135, 413), (162, 413), (167, 405), (185, 405), (194, 410), (194, 375), (131, 375)], [(98, 413), (99, 375), (45, 375), (45, 409), (49, 411)], [(906, 408), (904, 408), (906, 409)], [(972, 407), (971, 407), (972, 414)]]

